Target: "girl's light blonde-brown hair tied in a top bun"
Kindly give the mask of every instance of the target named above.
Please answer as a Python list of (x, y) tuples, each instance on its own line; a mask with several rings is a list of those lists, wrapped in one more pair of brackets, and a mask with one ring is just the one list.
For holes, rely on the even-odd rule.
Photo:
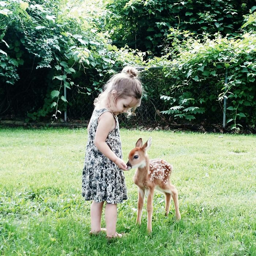
[[(97, 106), (103, 100), (110, 97), (112, 91), (116, 91), (114, 102), (126, 97), (134, 97), (138, 101), (142, 97), (142, 84), (138, 79), (139, 71), (131, 66), (124, 67), (121, 73), (113, 75), (103, 86), (103, 92), (94, 100), (94, 106)], [(109, 103), (109, 102), (108, 102)], [(131, 110), (128, 110), (128, 115)]]

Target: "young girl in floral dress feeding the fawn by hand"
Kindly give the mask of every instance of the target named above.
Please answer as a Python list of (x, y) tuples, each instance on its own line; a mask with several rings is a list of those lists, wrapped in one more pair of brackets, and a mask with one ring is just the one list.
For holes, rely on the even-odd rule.
[[(88, 141), (84, 159), (82, 195), (91, 204), (91, 234), (106, 231), (107, 237), (116, 233), (117, 203), (127, 199), (123, 170), (120, 132), (117, 115), (131, 113), (140, 105), (142, 85), (138, 71), (125, 67), (106, 83), (104, 91), (94, 101), (95, 109), (88, 125)], [(106, 229), (101, 228), (103, 204), (106, 202)]]

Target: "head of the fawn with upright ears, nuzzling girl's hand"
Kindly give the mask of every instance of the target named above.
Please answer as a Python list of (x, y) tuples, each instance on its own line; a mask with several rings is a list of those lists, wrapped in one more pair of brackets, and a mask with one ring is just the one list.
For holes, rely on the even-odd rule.
[[(142, 168), (146, 166), (147, 150), (150, 148), (152, 138), (150, 137), (147, 142), (143, 145), (142, 138), (138, 139), (135, 148), (131, 150), (127, 162), (127, 170), (132, 168)], [(142, 146), (143, 145), (143, 146)]]

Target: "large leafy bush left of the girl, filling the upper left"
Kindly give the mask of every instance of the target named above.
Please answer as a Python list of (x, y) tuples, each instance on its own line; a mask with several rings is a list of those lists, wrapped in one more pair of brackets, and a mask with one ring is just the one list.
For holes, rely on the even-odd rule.
[[(102, 78), (113, 72), (110, 69), (119, 55), (127, 55), (126, 49), (118, 50), (111, 44), (108, 32), (101, 32), (98, 16), (79, 13), (78, 2), (75, 6), (57, 0), (0, 2), (1, 113), (6, 102), (10, 105), (16, 98), (18, 105), (31, 107), (27, 111), (33, 120), (51, 113), (53, 108), (56, 117), (68, 103), (64, 88), (70, 90), (76, 85), (87, 95), (101, 91)], [(35, 80), (26, 72), (33, 72)], [(22, 81), (18, 81), (20, 76)], [(23, 86), (24, 102), (19, 98), (18, 86), (22, 88), (20, 84), (28, 81)], [(30, 86), (33, 95), (26, 94)], [(30, 113), (33, 109), (36, 111)]]

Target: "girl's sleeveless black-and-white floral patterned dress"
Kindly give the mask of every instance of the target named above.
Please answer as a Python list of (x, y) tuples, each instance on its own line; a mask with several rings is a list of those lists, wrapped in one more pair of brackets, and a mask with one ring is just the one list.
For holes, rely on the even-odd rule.
[[(86, 155), (82, 177), (82, 196), (85, 200), (106, 201), (110, 204), (121, 203), (127, 199), (124, 172), (109, 158), (105, 157), (94, 145), (98, 118), (108, 109), (94, 109), (88, 133)], [(116, 127), (109, 132), (106, 143), (118, 158), (123, 158), (117, 116)]]

